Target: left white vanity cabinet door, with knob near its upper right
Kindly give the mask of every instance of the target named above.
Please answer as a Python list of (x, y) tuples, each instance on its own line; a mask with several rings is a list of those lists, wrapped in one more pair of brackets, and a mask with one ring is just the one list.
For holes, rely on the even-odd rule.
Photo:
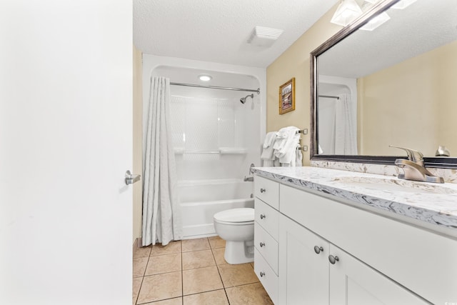
[(281, 215), (279, 304), (328, 304), (327, 256), (327, 241)]

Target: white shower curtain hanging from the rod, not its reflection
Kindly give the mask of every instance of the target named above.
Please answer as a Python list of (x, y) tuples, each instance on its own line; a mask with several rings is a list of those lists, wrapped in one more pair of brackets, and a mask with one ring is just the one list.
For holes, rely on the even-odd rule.
[(171, 145), (170, 80), (151, 79), (143, 186), (142, 244), (182, 238), (181, 211)]

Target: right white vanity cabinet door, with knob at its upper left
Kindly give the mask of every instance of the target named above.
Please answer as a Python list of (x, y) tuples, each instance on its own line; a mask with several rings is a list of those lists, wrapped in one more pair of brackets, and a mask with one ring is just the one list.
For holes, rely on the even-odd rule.
[(431, 304), (333, 244), (328, 255), (330, 305)]

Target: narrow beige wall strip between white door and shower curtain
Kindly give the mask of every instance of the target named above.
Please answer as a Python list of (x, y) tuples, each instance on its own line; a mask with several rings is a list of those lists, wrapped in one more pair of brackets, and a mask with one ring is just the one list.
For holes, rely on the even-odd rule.
[[(134, 174), (143, 174), (143, 161), (142, 161), (142, 145), (143, 145), (143, 124), (142, 124), (142, 116), (143, 116), (143, 98), (142, 98), (142, 68), (141, 68), (141, 51), (136, 49), (134, 46), (134, 141), (133, 141), (133, 149), (134, 149), (134, 167), (133, 173)], [(141, 178), (143, 178), (141, 176)], [(134, 184), (134, 205), (133, 205), (133, 215), (134, 215), (134, 230), (133, 230), (133, 241), (135, 239), (141, 237), (141, 210), (142, 210), (142, 184), (143, 181), (136, 182)]]

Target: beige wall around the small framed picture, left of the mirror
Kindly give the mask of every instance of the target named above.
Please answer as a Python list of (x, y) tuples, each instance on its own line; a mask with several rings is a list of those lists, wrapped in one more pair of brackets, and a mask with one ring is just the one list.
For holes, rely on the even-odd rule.
[[(266, 69), (266, 131), (285, 126), (310, 128), (311, 121), (311, 66), (310, 53), (341, 29), (330, 23), (336, 6), (306, 31)], [(281, 84), (295, 77), (295, 111), (280, 115), (278, 90)], [(310, 144), (309, 134), (302, 136), (301, 145)], [(303, 152), (303, 165), (309, 165), (309, 151)]]

